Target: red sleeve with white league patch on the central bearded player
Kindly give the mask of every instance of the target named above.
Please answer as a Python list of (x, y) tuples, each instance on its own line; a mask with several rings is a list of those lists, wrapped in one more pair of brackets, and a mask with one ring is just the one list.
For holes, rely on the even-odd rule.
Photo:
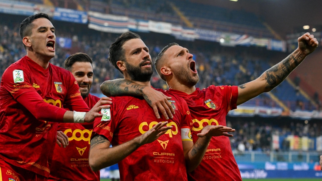
[[(105, 104), (107, 105), (107, 104)], [(113, 104), (112, 104), (113, 105)], [(94, 120), (93, 132), (95, 134), (105, 136), (109, 142), (112, 142), (114, 129), (116, 128), (116, 116), (112, 115), (113, 106), (108, 109), (101, 109), (100, 114), (103, 114), (102, 117), (96, 117)]]

